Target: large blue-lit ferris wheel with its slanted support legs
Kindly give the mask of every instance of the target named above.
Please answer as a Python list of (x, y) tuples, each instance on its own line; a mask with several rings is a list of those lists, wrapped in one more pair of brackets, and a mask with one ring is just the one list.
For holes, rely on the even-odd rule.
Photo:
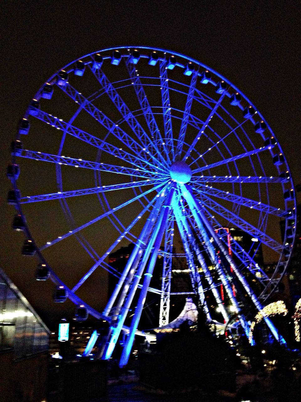
[[(262, 309), (293, 249), (294, 186), (273, 131), (226, 78), (179, 53), (116, 47), (55, 73), (20, 120), (7, 176), (13, 228), (26, 236), (22, 253), (38, 258), (37, 279), (50, 276), (55, 301), (70, 299), (77, 319), (110, 323), (104, 359), (126, 333), (121, 365), (142, 333), (148, 293), (160, 298), (159, 325), (169, 322), (176, 258), (185, 257), (186, 294), (197, 296), (208, 322), (227, 323), (235, 312), (248, 336), (245, 306)], [(120, 271), (108, 255), (129, 242)], [(273, 271), (258, 263), (259, 251), (276, 261)], [(74, 255), (67, 274), (57, 261)], [(151, 282), (158, 256), (161, 288)], [(101, 270), (116, 286), (98, 311), (80, 292), (87, 283), (101, 292), (93, 288)]]

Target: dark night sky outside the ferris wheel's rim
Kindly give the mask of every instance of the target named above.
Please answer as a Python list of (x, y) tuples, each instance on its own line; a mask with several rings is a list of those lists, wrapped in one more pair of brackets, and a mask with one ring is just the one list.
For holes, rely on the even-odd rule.
[[(42, 315), (51, 314), (53, 288), (35, 283), (35, 264), (20, 256), (20, 234), (10, 228), (14, 210), (6, 205), (5, 169), (28, 102), (73, 59), (118, 45), (162, 47), (198, 59), (252, 100), (277, 135), (295, 184), (301, 183), (298, 2), (15, 0), (0, 8), (0, 264)], [(61, 308), (55, 306), (54, 314)]]

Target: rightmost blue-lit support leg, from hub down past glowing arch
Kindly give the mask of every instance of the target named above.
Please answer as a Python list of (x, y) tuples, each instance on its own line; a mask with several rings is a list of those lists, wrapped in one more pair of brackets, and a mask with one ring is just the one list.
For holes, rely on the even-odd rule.
[[(191, 210), (194, 209), (196, 211), (196, 215), (199, 216), (201, 218), (201, 220), (203, 221), (206, 229), (208, 230), (208, 232), (214, 239), (214, 242), (217, 244), (220, 251), (224, 254), (229, 265), (232, 267), (236, 277), (239, 279), (240, 283), (242, 284), (242, 286), (248, 293), (249, 297), (251, 298), (252, 302), (254, 303), (254, 306), (257, 308), (258, 311), (262, 310), (262, 308), (263, 308), (262, 304), (260, 303), (260, 301), (256, 297), (255, 293), (250, 288), (250, 285), (246, 281), (245, 277), (240, 273), (240, 270), (236, 266), (236, 263), (234, 262), (232, 256), (229, 255), (226, 247), (221, 242), (218, 234), (216, 233), (216, 231), (214, 230), (212, 225), (209, 223), (209, 221), (208, 221), (207, 217), (205, 216), (205, 214), (203, 213), (202, 209), (199, 207), (199, 204), (198, 204), (197, 200), (195, 199), (189, 186), (183, 185), (182, 191), (183, 191), (183, 196), (185, 197), (187, 203), (190, 204), (190, 209)], [(268, 317), (264, 317), (264, 321), (266, 322), (266, 325), (268, 326), (268, 328), (270, 328), (270, 331), (272, 332), (275, 339), (279, 343), (286, 343), (284, 338), (278, 333), (273, 322)]]

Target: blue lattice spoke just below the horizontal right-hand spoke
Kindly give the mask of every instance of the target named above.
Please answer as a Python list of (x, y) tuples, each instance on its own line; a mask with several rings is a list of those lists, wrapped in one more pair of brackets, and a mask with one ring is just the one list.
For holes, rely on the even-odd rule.
[(203, 193), (208, 194), (208, 195), (211, 195), (214, 197), (224, 199), (226, 201), (230, 201), (231, 203), (234, 203), (234, 204), (244, 205), (245, 207), (248, 207), (251, 209), (257, 209), (258, 211), (261, 211), (263, 213), (268, 213), (268, 214), (276, 215), (276, 216), (283, 216), (283, 214), (285, 213), (285, 211), (283, 209), (272, 207), (272, 206), (264, 204), (260, 201), (255, 201), (250, 198), (242, 197), (240, 195), (232, 194), (232, 193), (229, 193), (229, 191), (223, 191), (220, 189), (216, 189), (209, 185), (200, 184), (200, 185), (197, 185), (197, 188), (194, 187), (194, 189), (196, 191), (200, 191), (202, 194)]

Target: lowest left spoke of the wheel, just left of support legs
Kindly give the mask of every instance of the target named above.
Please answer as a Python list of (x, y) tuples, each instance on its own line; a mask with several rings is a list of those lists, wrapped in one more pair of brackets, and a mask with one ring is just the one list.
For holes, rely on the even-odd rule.
[[(166, 186), (165, 186), (166, 188)], [(165, 188), (163, 188), (162, 191), (165, 190)], [(162, 193), (162, 192), (161, 192)], [(146, 205), (146, 207), (144, 207), (144, 209), (139, 213), (139, 215), (137, 215), (132, 222), (125, 228), (125, 230), (120, 234), (120, 236), (118, 236), (118, 238), (115, 240), (115, 242), (106, 250), (106, 252), (104, 252), (104, 254), (102, 255), (102, 257), (99, 258), (98, 261), (96, 261), (96, 263), (89, 269), (89, 271), (87, 271), (87, 273), (85, 275), (83, 275), (83, 277), (78, 281), (78, 283), (73, 287), (72, 291), (75, 292), (77, 291), (77, 289), (79, 289), (79, 287), (89, 278), (89, 276), (96, 270), (97, 267), (99, 267), (102, 262), (104, 261), (104, 259), (106, 257), (108, 257), (108, 255), (114, 250), (114, 248), (118, 245), (118, 243), (126, 236), (126, 234), (132, 229), (132, 227), (139, 222), (140, 218), (144, 215), (144, 213), (146, 211), (148, 211), (148, 209), (153, 205), (153, 203), (158, 199), (157, 195), (155, 195), (155, 197)], [(160, 200), (161, 201), (161, 200)], [(138, 239), (136, 244), (136, 247), (141, 247), (142, 244), (144, 245), (144, 239)], [(124, 281), (125, 276), (126, 275), (120, 275), (119, 274), (119, 278), (123, 277), (123, 280), (120, 279), (120, 281)], [(111, 306), (112, 307), (112, 306)], [(107, 311), (107, 314), (109, 313), (109, 311)]]

